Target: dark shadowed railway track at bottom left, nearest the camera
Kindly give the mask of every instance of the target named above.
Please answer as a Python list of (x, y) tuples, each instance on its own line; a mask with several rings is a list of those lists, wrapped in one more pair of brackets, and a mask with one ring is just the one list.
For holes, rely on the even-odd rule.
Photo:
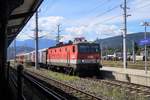
[[(17, 89), (17, 73), (16, 73), (16, 69), (11, 68), (10, 70), (10, 82), (15, 86), (15, 88)], [(23, 74), (23, 79), (24, 79), (24, 86), (26, 86), (26, 82), (30, 82), (32, 83), (33, 87), (36, 87), (38, 89), (40, 89), (41, 93), (43, 93), (46, 97), (51, 98), (53, 100), (68, 100), (67, 98), (61, 96), (59, 93), (56, 93), (55, 91), (53, 91), (52, 89), (50, 89), (49, 87), (47, 87), (46, 85), (43, 85), (42, 82), (39, 82), (37, 79), (35, 79), (34, 77), (32, 77), (29, 74)], [(33, 89), (32, 87), (32, 89)], [(32, 90), (30, 90), (32, 91)], [(35, 94), (32, 94), (35, 95)], [(24, 100), (28, 100), (28, 96), (24, 97)], [(30, 98), (31, 99), (31, 98)], [(39, 99), (40, 100), (40, 99)]]

